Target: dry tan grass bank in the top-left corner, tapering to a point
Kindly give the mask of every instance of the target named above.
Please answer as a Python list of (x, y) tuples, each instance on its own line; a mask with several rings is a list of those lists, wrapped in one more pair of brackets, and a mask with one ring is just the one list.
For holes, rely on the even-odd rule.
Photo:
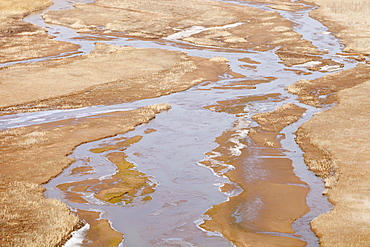
[(0, 2), (0, 63), (77, 51), (79, 46), (55, 41), (46, 30), (22, 20), (51, 3), (50, 0)]

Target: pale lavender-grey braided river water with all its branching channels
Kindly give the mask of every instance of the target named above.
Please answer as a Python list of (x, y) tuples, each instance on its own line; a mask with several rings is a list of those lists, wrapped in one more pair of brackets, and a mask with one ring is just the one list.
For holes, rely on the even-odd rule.
[[(55, 0), (55, 5), (49, 7), (51, 10), (71, 8), (76, 2), (89, 3), (83, 0)], [(349, 69), (356, 65), (356, 61), (336, 55), (341, 52), (342, 45), (332, 36), (325, 26), (309, 17), (312, 9), (296, 12), (274, 10), (264, 4), (253, 4), (248, 2), (225, 1), (235, 4), (256, 7), (262, 10), (276, 11), (284, 18), (295, 24), (294, 30), (301, 34), (304, 39), (309, 40), (321, 51), (328, 51), (321, 55), (325, 59), (332, 59), (343, 64), (342, 69)], [(47, 28), (51, 35), (57, 40), (76, 43), (81, 46), (80, 54), (86, 54), (93, 50), (94, 42), (87, 39), (75, 39), (80, 37), (75, 31), (61, 26), (45, 24), (41, 18), (42, 13), (33, 14), (25, 20)], [(237, 24), (236, 24), (237, 25)], [(199, 31), (199, 30), (198, 30)], [(186, 34), (184, 34), (186, 35)], [(294, 141), (294, 132), (298, 127), (309, 120), (317, 111), (315, 107), (301, 104), (295, 95), (289, 94), (285, 88), (300, 79), (315, 79), (326, 73), (332, 73), (339, 68), (332, 68), (330, 72), (311, 71), (311, 74), (297, 74), (291, 70), (297, 69), (308, 71), (305, 65), (286, 67), (275, 55), (274, 50), (256, 52), (253, 50), (235, 51), (202, 46), (187, 46), (184, 42), (177, 41), (176, 36), (169, 37), (161, 42), (143, 41), (135, 39), (117, 38), (108, 41), (99, 41), (111, 45), (132, 46), (143, 48), (159, 48), (168, 50), (181, 50), (190, 56), (197, 57), (225, 57), (230, 62), (230, 68), (244, 78), (224, 76), (217, 82), (202, 83), (187, 91), (174, 93), (159, 98), (145, 99), (131, 103), (109, 106), (93, 106), (74, 110), (53, 110), (34, 113), (20, 113), (0, 117), (0, 126), (10, 129), (21, 126), (53, 122), (62, 119), (84, 117), (99, 113), (136, 109), (141, 106), (156, 103), (169, 103), (172, 108), (162, 112), (148, 124), (140, 125), (135, 130), (124, 135), (119, 135), (96, 142), (86, 143), (78, 146), (71, 158), (75, 162), (64, 170), (55, 179), (44, 185), (48, 198), (57, 198), (71, 207), (72, 210), (89, 210), (102, 212), (101, 217), (110, 221), (112, 227), (124, 234), (124, 241), (120, 246), (234, 246), (221, 233), (209, 232), (200, 225), (209, 216), (205, 215), (208, 209), (214, 205), (230, 200), (238, 196), (242, 189), (238, 184), (233, 184), (233, 189), (223, 191), (220, 188), (229, 179), (209, 169), (200, 163), (212, 159), (210, 153), (218, 144), (216, 138), (225, 131), (233, 130), (238, 135), (234, 136), (235, 145), (230, 148), (230, 155), (240, 156), (248, 149), (243, 144), (248, 138), (246, 130), (257, 126), (251, 117), (255, 114), (273, 111), (277, 107), (288, 103), (294, 103), (299, 107), (307, 109), (303, 117), (285, 127), (282, 134), (285, 138), (281, 140), (283, 157), (292, 161), (294, 173), (307, 184), (310, 192), (306, 203), (310, 211), (293, 223), (295, 233), (280, 233), (270, 231), (259, 231), (260, 234), (271, 236), (286, 236), (300, 239), (308, 246), (318, 246), (318, 239), (311, 231), (309, 222), (317, 215), (331, 210), (331, 204), (322, 195), (324, 185), (320, 178), (316, 177), (306, 168), (303, 162), (302, 151)], [(61, 54), (68, 56), (68, 54)], [(72, 56), (76, 56), (73, 54)], [(249, 58), (258, 62), (252, 69), (243, 67), (240, 59)], [(53, 59), (53, 58), (45, 58)], [(39, 59), (22, 62), (36, 62)], [(12, 64), (17, 63), (13, 62)], [(7, 66), (11, 64), (1, 64)], [(251, 87), (237, 87), (225, 85), (237, 85), (245, 80), (274, 79), (268, 83), (260, 83)], [(279, 95), (277, 98), (271, 95)], [(237, 98), (248, 96), (261, 97), (261, 100), (249, 101), (242, 113), (233, 114), (230, 111), (212, 111), (213, 105), (218, 101), (232, 101)], [(263, 98), (268, 96), (266, 98)], [(229, 112), (229, 113), (228, 113)], [(153, 130), (153, 131), (148, 131)], [(154, 131), (155, 130), (155, 131)], [(91, 152), (91, 149), (115, 145), (123, 138), (141, 136), (141, 140), (133, 143), (124, 150), (126, 160), (138, 168), (144, 174), (150, 176), (150, 183), (155, 186), (155, 191), (150, 194), (151, 200), (142, 200), (137, 197), (127, 205), (121, 203), (103, 202), (93, 196), (92, 192), (81, 192), (80, 194), (88, 203), (71, 202), (65, 192), (57, 188), (60, 184), (98, 179), (103, 181), (116, 173), (116, 166), (106, 159), (109, 152)], [(213, 153), (217, 155), (216, 153)], [(267, 154), (253, 152), (245, 160), (244, 177), (246, 180), (262, 176), (263, 170), (254, 167), (254, 161), (260, 158), (269, 158)], [(271, 158), (276, 158), (271, 156)], [(76, 168), (89, 167), (89, 172), (75, 174)], [(227, 167), (225, 169), (233, 169)], [(306, 185), (302, 185), (306, 186)], [(258, 193), (257, 193), (258, 194)], [(248, 213), (235, 212), (235, 221), (239, 218), (259, 217), (259, 208), (263, 201), (253, 200), (248, 202)]]

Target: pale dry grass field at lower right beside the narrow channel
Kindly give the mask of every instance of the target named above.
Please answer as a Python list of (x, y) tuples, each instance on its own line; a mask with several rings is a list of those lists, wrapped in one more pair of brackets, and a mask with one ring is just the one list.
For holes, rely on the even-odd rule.
[(320, 176), (329, 175), (325, 193), (334, 210), (312, 222), (322, 246), (368, 246), (370, 241), (369, 94), (370, 81), (341, 90), (338, 105), (297, 133), (300, 144), (309, 143), (301, 145), (307, 165)]

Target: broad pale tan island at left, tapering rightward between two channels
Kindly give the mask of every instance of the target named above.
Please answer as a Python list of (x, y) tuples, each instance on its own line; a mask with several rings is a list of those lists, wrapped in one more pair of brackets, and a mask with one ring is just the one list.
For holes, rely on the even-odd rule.
[(97, 43), (79, 58), (0, 69), (0, 109), (4, 114), (130, 102), (183, 91), (227, 71), (222, 59)]

